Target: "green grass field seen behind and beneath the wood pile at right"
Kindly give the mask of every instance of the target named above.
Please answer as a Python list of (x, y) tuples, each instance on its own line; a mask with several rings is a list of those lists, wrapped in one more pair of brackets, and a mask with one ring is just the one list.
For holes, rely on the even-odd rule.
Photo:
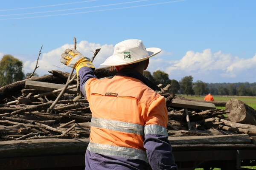
[[(204, 96), (191, 96), (191, 95), (177, 95), (181, 97), (185, 97), (188, 99), (198, 99), (198, 100), (204, 100)], [(215, 101), (228, 101), (229, 99), (235, 98), (239, 99), (245, 104), (249, 105), (250, 107), (254, 108), (256, 110), (256, 96), (213, 96)], [(225, 109), (225, 107), (218, 107), (221, 109)], [(248, 169), (256, 170), (256, 166), (254, 167), (244, 167)], [(196, 168), (195, 170), (204, 170), (204, 168)], [(213, 170), (221, 170), (220, 168), (214, 168)]]

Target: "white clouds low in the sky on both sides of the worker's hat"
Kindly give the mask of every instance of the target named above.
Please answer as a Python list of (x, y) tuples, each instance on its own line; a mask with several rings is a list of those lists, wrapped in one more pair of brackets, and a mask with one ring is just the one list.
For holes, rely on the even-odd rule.
[[(50, 70), (61, 70), (70, 72), (71, 68), (60, 62), (61, 54), (67, 48), (73, 48), (73, 44), (65, 44), (47, 53), (41, 54), (38, 62), (39, 68), (36, 73), (39, 76), (48, 74)], [(81, 41), (77, 44), (77, 50), (86, 57), (93, 57), (93, 52), (101, 48), (93, 63), (96, 68), (105, 59), (113, 54), (113, 45), (101, 45)], [(0, 57), (3, 53), (0, 52)], [(23, 60), (24, 73), (32, 72), (36, 65), (34, 61), (26, 61), (24, 57), (18, 57)], [(203, 82), (255, 82), (256, 74), (256, 54), (252, 58), (239, 58), (231, 54), (223, 54), (221, 51), (212, 53), (211, 49), (205, 49), (202, 52), (187, 51), (180, 60), (174, 60), (171, 52), (162, 51), (155, 57), (150, 58), (148, 71), (161, 70), (169, 74), (170, 79), (179, 81), (185, 76), (191, 75), (193, 81), (201, 80)]]

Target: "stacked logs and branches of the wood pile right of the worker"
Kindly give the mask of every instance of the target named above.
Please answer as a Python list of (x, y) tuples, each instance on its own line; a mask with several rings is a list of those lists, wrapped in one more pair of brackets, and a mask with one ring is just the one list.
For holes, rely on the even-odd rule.
[[(211, 108), (225, 106), (226, 110)], [(256, 136), (256, 111), (238, 99), (226, 102), (188, 100), (170, 95), (166, 99), (169, 136), (247, 134)]]

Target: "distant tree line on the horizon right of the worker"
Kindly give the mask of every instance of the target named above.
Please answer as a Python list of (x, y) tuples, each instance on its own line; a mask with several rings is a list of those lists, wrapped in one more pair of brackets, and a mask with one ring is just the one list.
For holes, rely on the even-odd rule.
[(256, 82), (238, 82), (238, 83), (205, 83), (200, 80), (193, 82), (192, 76), (183, 77), (179, 82), (175, 79), (169, 79), (169, 75), (163, 71), (157, 70), (151, 73), (144, 71), (145, 77), (155, 84), (163, 84), (165, 87), (171, 84), (170, 93), (186, 95), (213, 95), (222, 96), (256, 96)]

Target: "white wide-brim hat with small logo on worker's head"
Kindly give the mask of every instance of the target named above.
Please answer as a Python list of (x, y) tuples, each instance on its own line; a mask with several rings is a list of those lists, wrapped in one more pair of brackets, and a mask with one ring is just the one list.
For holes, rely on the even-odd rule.
[(145, 48), (141, 40), (124, 40), (115, 45), (114, 54), (100, 65), (118, 66), (143, 61), (161, 52), (160, 48)]

